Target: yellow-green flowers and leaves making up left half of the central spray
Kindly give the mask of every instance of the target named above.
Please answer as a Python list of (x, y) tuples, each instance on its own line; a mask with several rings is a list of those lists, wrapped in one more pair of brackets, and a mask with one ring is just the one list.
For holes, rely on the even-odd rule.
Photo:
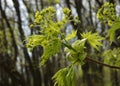
[[(45, 62), (53, 55), (59, 52), (62, 40), (66, 39), (61, 32), (62, 28), (70, 21), (77, 21), (77, 19), (71, 19), (70, 10), (68, 8), (63, 9), (64, 18), (61, 21), (56, 21), (56, 10), (54, 7), (48, 7), (42, 11), (37, 11), (35, 14), (35, 20), (31, 27), (41, 28), (39, 35), (32, 35), (27, 38), (26, 46), (31, 50), (35, 46), (42, 46), (44, 53), (42, 55), (41, 64)], [(74, 35), (75, 34), (75, 35)], [(69, 35), (67, 39), (70, 40), (76, 36), (76, 32)]]

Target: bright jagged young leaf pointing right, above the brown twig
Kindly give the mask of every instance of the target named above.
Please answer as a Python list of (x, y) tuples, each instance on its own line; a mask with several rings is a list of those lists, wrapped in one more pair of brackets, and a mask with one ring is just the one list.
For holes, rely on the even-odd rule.
[(98, 46), (102, 46), (102, 43), (100, 41), (103, 40), (104, 38), (99, 36), (98, 33), (87, 32), (81, 34), (81, 36), (83, 38), (86, 38), (88, 43), (97, 50), (98, 50)]

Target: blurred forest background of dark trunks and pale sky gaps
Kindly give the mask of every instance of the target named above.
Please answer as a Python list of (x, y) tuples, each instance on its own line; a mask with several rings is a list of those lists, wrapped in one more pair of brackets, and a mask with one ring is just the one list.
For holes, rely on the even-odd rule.
[[(120, 0), (0, 0), (0, 86), (53, 86), (51, 77), (60, 68), (67, 65), (64, 53), (51, 58), (46, 67), (39, 67), (43, 53), (42, 47), (35, 47), (32, 52), (25, 47), (25, 39), (31, 34), (39, 34), (40, 28), (30, 29), (36, 11), (48, 6), (57, 10), (57, 19), (63, 17), (62, 8), (71, 9), (71, 14), (78, 16), (81, 23), (72, 22), (65, 27), (65, 33), (77, 29), (79, 33), (91, 31), (105, 36), (109, 28), (98, 22), (96, 13), (106, 2), (117, 3), (116, 10), (120, 13)], [(120, 33), (117, 33), (120, 35)], [(78, 38), (80, 34), (77, 34)], [(103, 62), (101, 53), (109, 48), (120, 47), (106, 39), (100, 51), (89, 49), (89, 56)], [(81, 68), (77, 86), (120, 86), (120, 71), (86, 62)]]

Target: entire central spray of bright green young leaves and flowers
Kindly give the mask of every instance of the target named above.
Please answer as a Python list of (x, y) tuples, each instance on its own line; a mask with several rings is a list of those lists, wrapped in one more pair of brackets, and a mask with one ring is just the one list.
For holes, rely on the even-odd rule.
[(40, 27), (41, 34), (28, 37), (26, 46), (31, 50), (36, 46), (43, 47), (44, 52), (40, 62), (41, 65), (45, 65), (51, 56), (57, 54), (61, 47), (64, 47), (66, 59), (70, 62), (70, 65), (60, 69), (53, 76), (53, 79), (55, 80), (55, 86), (75, 86), (76, 74), (74, 66), (84, 64), (84, 59), (87, 56), (85, 43), (88, 42), (93, 48), (98, 49), (99, 46), (102, 46), (101, 40), (103, 40), (103, 37), (99, 36), (98, 33), (87, 32), (81, 34), (82, 39), (70, 44), (69, 40), (76, 37), (77, 31), (73, 30), (71, 34), (65, 36), (65, 33), (62, 33), (61, 30), (70, 21), (79, 23), (79, 20), (78, 17), (71, 19), (73, 16), (70, 15), (68, 8), (64, 8), (63, 13), (64, 18), (61, 21), (56, 21), (56, 11), (53, 7), (36, 12), (35, 21), (31, 26)]

